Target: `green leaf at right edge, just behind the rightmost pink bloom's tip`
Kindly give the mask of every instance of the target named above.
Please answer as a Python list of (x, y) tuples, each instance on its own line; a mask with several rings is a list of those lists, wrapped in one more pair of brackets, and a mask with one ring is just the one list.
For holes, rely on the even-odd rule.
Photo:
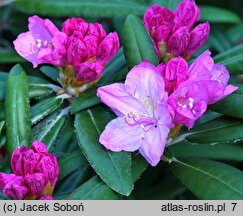
[(241, 74), (243, 72), (243, 44), (220, 53), (214, 57), (214, 61), (225, 65), (231, 75)]

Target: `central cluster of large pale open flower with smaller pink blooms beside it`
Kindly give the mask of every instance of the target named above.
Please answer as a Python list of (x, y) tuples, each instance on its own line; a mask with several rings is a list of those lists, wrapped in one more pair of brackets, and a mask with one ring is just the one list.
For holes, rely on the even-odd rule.
[(152, 165), (160, 161), (170, 129), (177, 124), (189, 129), (212, 104), (237, 87), (227, 85), (229, 73), (214, 64), (210, 52), (188, 68), (177, 57), (157, 68), (142, 62), (132, 68), (125, 84), (100, 87), (97, 96), (118, 116), (100, 136), (112, 151), (139, 152)]

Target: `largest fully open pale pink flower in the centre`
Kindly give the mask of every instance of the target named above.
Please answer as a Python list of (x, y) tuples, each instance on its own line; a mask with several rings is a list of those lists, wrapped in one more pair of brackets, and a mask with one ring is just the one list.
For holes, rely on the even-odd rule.
[(156, 166), (173, 126), (164, 81), (156, 67), (140, 63), (128, 73), (125, 84), (100, 87), (97, 96), (118, 115), (106, 126), (100, 143), (112, 151), (138, 149)]

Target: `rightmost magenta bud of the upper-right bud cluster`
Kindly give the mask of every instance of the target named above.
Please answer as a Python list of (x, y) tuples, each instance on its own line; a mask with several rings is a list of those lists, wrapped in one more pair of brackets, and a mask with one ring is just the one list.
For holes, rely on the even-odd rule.
[(192, 56), (208, 40), (210, 31), (209, 23), (202, 23), (190, 32), (190, 42), (187, 47), (186, 55)]

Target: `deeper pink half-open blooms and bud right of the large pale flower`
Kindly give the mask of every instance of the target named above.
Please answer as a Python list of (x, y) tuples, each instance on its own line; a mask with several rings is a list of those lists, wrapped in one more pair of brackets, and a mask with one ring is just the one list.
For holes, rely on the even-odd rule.
[(236, 86), (227, 85), (229, 72), (225, 66), (214, 64), (210, 54), (210, 51), (205, 51), (189, 68), (181, 57), (157, 67), (165, 80), (169, 110), (175, 124), (192, 128), (206, 111), (207, 105), (237, 89)]

